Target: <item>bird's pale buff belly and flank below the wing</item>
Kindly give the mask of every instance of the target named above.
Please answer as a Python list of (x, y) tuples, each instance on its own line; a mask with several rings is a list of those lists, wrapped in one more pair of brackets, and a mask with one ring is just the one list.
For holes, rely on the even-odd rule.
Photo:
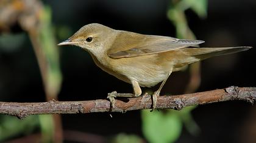
[(171, 61), (160, 62), (160, 64), (154, 62), (155, 55), (146, 55), (144, 56), (146, 58), (141, 57), (142, 56), (138, 58), (136, 57), (136, 59), (134, 58), (133, 61), (136, 62), (127, 59), (124, 61), (125, 59), (123, 58), (110, 59), (112, 64), (108, 63), (105, 65), (100, 64), (95, 57), (93, 57), (93, 59), (98, 67), (110, 75), (113, 75), (116, 78), (130, 84), (132, 80), (137, 81), (141, 87), (152, 87), (157, 85), (159, 82), (162, 82), (167, 78), (172, 69), (173, 71), (177, 71), (180, 68), (176, 67), (175, 64)]

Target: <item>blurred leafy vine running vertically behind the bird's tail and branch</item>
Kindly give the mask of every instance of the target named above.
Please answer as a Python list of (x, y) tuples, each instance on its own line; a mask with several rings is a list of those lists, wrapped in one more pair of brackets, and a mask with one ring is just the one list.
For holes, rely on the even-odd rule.
[[(167, 11), (168, 19), (176, 27), (177, 38), (196, 39), (194, 33), (188, 26), (185, 10), (191, 8), (199, 17), (205, 18), (207, 15), (207, 0), (173, 0), (170, 2)], [(191, 81), (188, 84), (186, 93), (196, 90), (200, 84), (199, 63), (190, 68)], [(197, 135), (200, 131), (191, 115), (193, 107), (183, 108), (181, 111), (164, 110), (141, 111), (143, 134), (149, 142), (175, 142), (182, 133), (183, 124), (192, 135)]]

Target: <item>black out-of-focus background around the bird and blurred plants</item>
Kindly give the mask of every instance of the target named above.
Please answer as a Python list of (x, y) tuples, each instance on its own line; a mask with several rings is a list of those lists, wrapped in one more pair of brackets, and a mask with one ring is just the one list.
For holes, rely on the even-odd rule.
[[(69, 27), (69, 36), (92, 22), (149, 35), (176, 35), (174, 26), (166, 16), (169, 1), (43, 2), (52, 9), (55, 27)], [(254, 0), (210, 0), (207, 18), (200, 19), (191, 10), (187, 10), (186, 14), (188, 24), (197, 39), (205, 41), (201, 47), (256, 45)], [(62, 40), (65, 39), (58, 37), (58, 41)], [(114, 90), (132, 92), (131, 85), (96, 67), (84, 50), (69, 46), (61, 47), (60, 52), (63, 72), (60, 101), (104, 99), (107, 93)], [(252, 48), (246, 52), (202, 61), (202, 82), (197, 91), (226, 88), (230, 85), (255, 87), (255, 54), (256, 50)], [(0, 51), (0, 69), (1, 101), (45, 101), (40, 71), (28, 38), (15, 52)], [(188, 79), (188, 71), (173, 73), (162, 94), (183, 93)], [(256, 135), (256, 128), (252, 128), (256, 124), (255, 111), (255, 105), (244, 101), (200, 105), (192, 113), (201, 128), (201, 134), (192, 136), (184, 129), (177, 142), (247, 141), (245, 139)], [(143, 136), (140, 111), (113, 113), (112, 116), (110, 118), (108, 113), (62, 115), (63, 128), (102, 136), (113, 136), (120, 132)]]

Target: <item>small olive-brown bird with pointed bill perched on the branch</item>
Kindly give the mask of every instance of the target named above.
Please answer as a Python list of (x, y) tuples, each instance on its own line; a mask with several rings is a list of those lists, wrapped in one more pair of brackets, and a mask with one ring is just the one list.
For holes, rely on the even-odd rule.
[(169, 36), (143, 35), (115, 30), (102, 24), (88, 24), (58, 45), (76, 45), (90, 53), (98, 67), (121, 81), (132, 84), (133, 93), (108, 93), (112, 108), (117, 96), (133, 98), (142, 94), (141, 87), (162, 82), (152, 95), (152, 110), (169, 75), (188, 64), (248, 50), (251, 47), (201, 48), (202, 40)]

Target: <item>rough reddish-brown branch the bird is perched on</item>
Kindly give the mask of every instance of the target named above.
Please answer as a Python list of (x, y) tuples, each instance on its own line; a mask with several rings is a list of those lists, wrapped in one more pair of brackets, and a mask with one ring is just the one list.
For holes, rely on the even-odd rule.
[[(228, 87), (211, 91), (190, 93), (176, 96), (159, 96), (157, 108), (181, 110), (191, 105), (208, 104), (212, 102), (244, 100), (253, 104), (256, 99), (256, 87)], [(150, 95), (124, 100), (116, 99), (112, 111), (125, 112), (142, 110), (152, 107)], [(110, 110), (110, 102), (106, 99), (94, 101), (48, 101), (33, 103), (0, 102), (0, 113), (25, 118), (28, 115), (40, 114), (76, 114), (106, 112)]]

